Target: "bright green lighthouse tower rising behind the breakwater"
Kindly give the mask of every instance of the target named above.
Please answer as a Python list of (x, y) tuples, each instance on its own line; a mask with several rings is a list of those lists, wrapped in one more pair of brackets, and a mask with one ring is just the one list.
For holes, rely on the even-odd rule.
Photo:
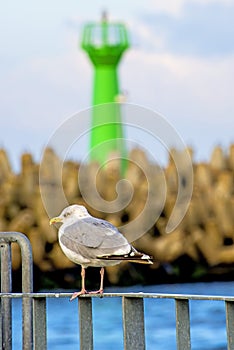
[(125, 153), (117, 67), (128, 47), (125, 26), (109, 23), (105, 14), (100, 23), (84, 27), (82, 48), (94, 65), (90, 160), (100, 164), (112, 153), (118, 153), (121, 158)]

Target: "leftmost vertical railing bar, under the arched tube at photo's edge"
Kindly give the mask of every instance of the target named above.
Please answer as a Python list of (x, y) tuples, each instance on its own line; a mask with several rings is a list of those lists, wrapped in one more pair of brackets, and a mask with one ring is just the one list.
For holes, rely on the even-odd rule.
[[(11, 246), (1, 240), (1, 291), (12, 291)], [(12, 300), (4, 298), (1, 301), (2, 349), (12, 349)]]

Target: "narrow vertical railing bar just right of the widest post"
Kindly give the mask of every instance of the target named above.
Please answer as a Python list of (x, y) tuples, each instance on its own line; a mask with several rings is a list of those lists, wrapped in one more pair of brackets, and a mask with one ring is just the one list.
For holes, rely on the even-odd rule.
[(189, 301), (187, 299), (175, 299), (175, 305), (177, 350), (190, 350)]

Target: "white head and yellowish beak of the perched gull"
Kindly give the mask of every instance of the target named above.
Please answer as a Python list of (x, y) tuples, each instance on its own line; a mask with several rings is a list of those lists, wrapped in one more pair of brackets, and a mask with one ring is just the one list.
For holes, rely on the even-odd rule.
[(83, 205), (73, 204), (63, 209), (59, 216), (55, 216), (54, 218), (50, 219), (50, 225), (56, 223), (72, 223), (77, 219), (82, 219), (88, 216), (90, 215)]

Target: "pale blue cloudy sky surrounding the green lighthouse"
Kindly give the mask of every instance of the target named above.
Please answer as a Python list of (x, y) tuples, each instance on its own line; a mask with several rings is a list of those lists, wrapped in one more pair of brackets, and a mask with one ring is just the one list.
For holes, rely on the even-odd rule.
[(80, 40), (103, 10), (128, 28), (119, 66), (127, 102), (163, 115), (196, 161), (208, 161), (216, 145), (228, 151), (234, 0), (9, 0), (0, 13), (0, 147), (13, 167), (23, 152), (40, 160), (55, 130), (91, 106), (93, 69)]

